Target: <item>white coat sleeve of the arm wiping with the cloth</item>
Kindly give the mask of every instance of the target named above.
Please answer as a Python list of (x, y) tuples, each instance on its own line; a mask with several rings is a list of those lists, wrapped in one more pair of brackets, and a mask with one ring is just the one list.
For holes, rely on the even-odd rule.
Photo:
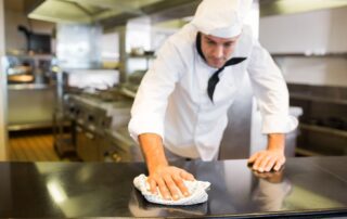
[(175, 44), (167, 40), (143, 77), (131, 108), (128, 129), (136, 142), (141, 133), (156, 133), (164, 139), (168, 98), (180, 78), (182, 66), (180, 53)]

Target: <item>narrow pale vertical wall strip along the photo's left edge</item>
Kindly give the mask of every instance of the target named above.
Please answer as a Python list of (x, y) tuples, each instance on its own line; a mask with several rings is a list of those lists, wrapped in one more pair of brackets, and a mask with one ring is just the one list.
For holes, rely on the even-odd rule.
[[(3, 0), (0, 0), (0, 57), (4, 55), (4, 22), (3, 22)], [(0, 60), (0, 160), (9, 158), (8, 152), (8, 132), (5, 128), (7, 115), (7, 78)]]

